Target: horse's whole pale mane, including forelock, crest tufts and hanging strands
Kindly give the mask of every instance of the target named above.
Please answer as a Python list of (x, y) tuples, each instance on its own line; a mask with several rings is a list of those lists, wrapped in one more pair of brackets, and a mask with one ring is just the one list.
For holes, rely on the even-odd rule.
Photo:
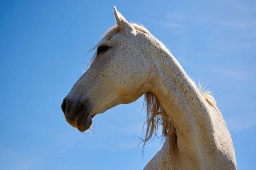
[[(141, 24), (139, 25), (137, 23), (131, 23), (131, 25), (134, 26), (136, 30), (154, 37), (143, 25)], [(103, 44), (105, 41), (110, 40), (111, 37), (113, 37), (115, 34), (118, 34), (120, 31), (121, 31), (121, 28), (119, 28), (118, 26), (113, 26), (108, 31), (106, 31), (105, 34), (102, 35), (102, 40), (100, 40), (90, 51), (96, 49), (99, 45)], [(156, 37), (154, 38), (157, 39)], [(161, 43), (161, 45), (163, 45), (163, 47), (165, 47), (165, 45), (160, 40), (158, 41)], [(95, 57), (96, 57), (96, 53), (94, 54), (90, 63), (93, 62)], [(195, 83), (194, 81), (192, 82)], [(197, 85), (195, 84), (195, 86)], [(212, 92), (209, 90), (204, 91), (205, 87), (202, 88), (202, 85), (200, 83), (197, 87), (198, 87), (198, 91), (204, 97), (207, 103), (213, 108), (215, 108), (215, 110), (217, 111), (221, 119), (223, 119), (221, 112), (217, 108), (216, 101), (212, 96)], [(146, 104), (147, 119), (145, 121), (145, 124), (146, 124), (145, 139), (142, 139), (144, 143), (143, 150), (145, 148), (146, 142), (148, 142), (150, 139), (154, 139), (157, 136), (158, 128), (162, 127), (161, 136), (157, 136), (157, 137), (162, 137), (162, 139), (164, 140), (169, 139), (170, 154), (171, 153), (174, 154), (174, 159), (176, 159), (175, 164), (176, 162), (180, 164), (179, 154), (177, 150), (177, 132), (174, 125), (172, 124), (172, 120), (163, 110), (163, 107), (161, 106), (159, 100), (157, 99), (157, 96), (154, 93), (152, 92), (145, 93), (145, 104)]]

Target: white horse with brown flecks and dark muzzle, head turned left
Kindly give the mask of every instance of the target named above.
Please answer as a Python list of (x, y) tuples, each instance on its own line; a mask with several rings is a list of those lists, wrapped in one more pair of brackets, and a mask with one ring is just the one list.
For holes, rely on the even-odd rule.
[(144, 142), (158, 125), (166, 139), (145, 170), (235, 170), (232, 139), (215, 99), (197, 88), (148, 30), (129, 23), (115, 7), (114, 15), (117, 26), (96, 45), (90, 68), (61, 105), (67, 122), (85, 131), (96, 114), (145, 94)]

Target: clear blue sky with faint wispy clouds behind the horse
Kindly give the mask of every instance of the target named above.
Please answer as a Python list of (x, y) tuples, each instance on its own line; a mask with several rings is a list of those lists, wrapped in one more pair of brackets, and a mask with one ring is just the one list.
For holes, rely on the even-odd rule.
[[(143, 97), (68, 125), (61, 102), (82, 75), (113, 6), (142, 23), (218, 100), (238, 170), (256, 166), (256, 1), (32, 0), (0, 2), (0, 164), (3, 170), (141, 170), (161, 147), (139, 136)], [(139, 144), (139, 145), (138, 145)]]

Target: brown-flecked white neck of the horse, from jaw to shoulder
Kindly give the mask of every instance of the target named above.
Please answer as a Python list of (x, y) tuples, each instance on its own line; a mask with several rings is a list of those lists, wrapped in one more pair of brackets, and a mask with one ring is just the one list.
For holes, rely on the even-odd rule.
[[(211, 154), (217, 156), (218, 153), (211, 152), (223, 145), (233, 148), (222, 117), (207, 103), (179, 62), (163, 45), (155, 45), (153, 51), (151, 91), (177, 130), (177, 147), (183, 160), (192, 160), (191, 166), (198, 167)], [(233, 156), (234, 151), (229, 152)]]

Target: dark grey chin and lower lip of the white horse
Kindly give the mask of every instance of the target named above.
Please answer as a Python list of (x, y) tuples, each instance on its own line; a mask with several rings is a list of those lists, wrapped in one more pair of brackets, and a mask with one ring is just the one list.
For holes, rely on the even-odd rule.
[(89, 115), (80, 114), (76, 118), (76, 128), (80, 132), (84, 132), (85, 130), (88, 130), (92, 124), (93, 124), (93, 116), (91, 116), (90, 114)]

